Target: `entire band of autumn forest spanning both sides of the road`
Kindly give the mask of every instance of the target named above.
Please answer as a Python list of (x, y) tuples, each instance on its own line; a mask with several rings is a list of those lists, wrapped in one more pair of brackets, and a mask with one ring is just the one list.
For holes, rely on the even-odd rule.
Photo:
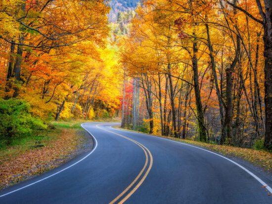
[(272, 5), (2, 0), (0, 96), (44, 119), (121, 117), (132, 129), (272, 148)]

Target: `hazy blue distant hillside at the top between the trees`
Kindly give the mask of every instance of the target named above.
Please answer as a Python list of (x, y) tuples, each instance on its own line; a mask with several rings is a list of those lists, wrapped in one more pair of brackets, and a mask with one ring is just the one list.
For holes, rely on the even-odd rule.
[(109, 14), (109, 21), (117, 21), (117, 16), (120, 11), (128, 12), (129, 10), (134, 10), (139, 1), (140, 0), (111, 0), (110, 6), (112, 9)]

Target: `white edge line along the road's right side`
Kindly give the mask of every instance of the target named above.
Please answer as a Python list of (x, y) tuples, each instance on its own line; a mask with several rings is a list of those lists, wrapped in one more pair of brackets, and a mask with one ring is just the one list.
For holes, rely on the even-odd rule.
[[(111, 128), (113, 128), (113, 127), (111, 126)], [(114, 128), (114, 129), (117, 129), (117, 128)], [(123, 130), (123, 129), (121, 129), (121, 130)], [(123, 130), (123, 131), (128, 131), (128, 130)], [(129, 132), (132, 132), (132, 131), (129, 131)], [(136, 133), (138, 133), (138, 132), (136, 132)], [(139, 134), (143, 134), (143, 135), (147, 135), (147, 136), (150, 136), (150, 137), (155, 137), (155, 138), (159, 138), (159, 139), (164, 139), (164, 140), (176, 142), (176, 143), (179, 143), (179, 144), (182, 144), (182, 145), (187, 145), (187, 146), (194, 147), (194, 148), (197, 148), (197, 149), (200, 149), (200, 150), (204, 150), (204, 151), (206, 151), (206, 152), (212, 153), (212, 154), (217, 155), (217, 156), (219, 156), (219, 157), (222, 157), (222, 158), (224, 158), (225, 160), (227, 160), (227, 161), (229, 161), (229, 162), (231, 162), (231, 163), (234, 163), (235, 165), (239, 166), (241, 169), (243, 169), (244, 171), (246, 171), (246, 172), (247, 172), (248, 174), (250, 174), (253, 178), (255, 178), (257, 181), (259, 181), (259, 183), (261, 183), (263, 186), (265, 186), (266, 189), (272, 194), (272, 188), (271, 188), (268, 184), (266, 184), (262, 179), (260, 179), (258, 176), (256, 176), (254, 173), (252, 173), (252, 172), (251, 172), (250, 170), (248, 170), (247, 168), (243, 167), (243, 166), (240, 165), (239, 163), (236, 163), (236, 162), (234, 162), (234, 161), (228, 159), (227, 157), (224, 157), (224, 156), (222, 156), (222, 155), (220, 155), (220, 154), (217, 154), (217, 153), (214, 153), (214, 152), (212, 152), (212, 151), (205, 150), (205, 149), (203, 149), (203, 148), (196, 147), (196, 146), (193, 146), (193, 145), (189, 145), (189, 144), (186, 144), (186, 143), (183, 143), (183, 142), (178, 142), (178, 141), (174, 141), (174, 140), (171, 140), (171, 139), (167, 139), (167, 138), (163, 138), (163, 137), (159, 137), (159, 136), (153, 136), (153, 135), (144, 134), (144, 133), (139, 133)]]

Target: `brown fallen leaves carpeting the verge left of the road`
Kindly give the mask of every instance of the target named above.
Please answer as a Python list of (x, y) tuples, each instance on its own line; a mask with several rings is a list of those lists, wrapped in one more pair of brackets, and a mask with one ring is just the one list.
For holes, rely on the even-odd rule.
[(76, 134), (75, 129), (63, 129), (58, 138), (47, 146), (29, 149), (7, 161), (0, 161), (0, 188), (31, 178), (65, 162), (81, 141), (82, 138)]

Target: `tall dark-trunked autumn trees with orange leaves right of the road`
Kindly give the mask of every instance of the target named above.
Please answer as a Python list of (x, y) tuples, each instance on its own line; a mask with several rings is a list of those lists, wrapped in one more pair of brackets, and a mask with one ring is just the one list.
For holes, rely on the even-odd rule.
[(139, 106), (147, 111), (138, 117), (150, 133), (272, 147), (265, 7), (257, 0), (142, 1), (120, 52), (142, 90)]

